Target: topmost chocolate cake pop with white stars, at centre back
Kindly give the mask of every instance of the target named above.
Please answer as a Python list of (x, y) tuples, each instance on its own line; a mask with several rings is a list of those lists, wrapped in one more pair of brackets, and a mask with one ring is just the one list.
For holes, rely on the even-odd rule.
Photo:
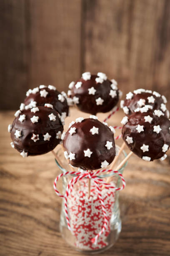
[(121, 95), (117, 82), (114, 79), (108, 80), (101, 72), (97, 75), (91, 75), (90, 72), (83, 73), (80, 80), (69, 84), (69, 89), (68, 97), (72, 98), (82, 112), (92, 115), (110, 111)]

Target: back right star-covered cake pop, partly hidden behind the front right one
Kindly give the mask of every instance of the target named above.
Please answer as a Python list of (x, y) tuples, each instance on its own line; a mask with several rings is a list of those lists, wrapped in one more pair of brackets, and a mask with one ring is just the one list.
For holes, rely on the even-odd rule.
[(125, 115), (131, 115), (134, 112), (140, 110), (141, 112), (147, 112), (148, 110), (161, 110), (167, 118), (170, 113), (166, 108), (167, 100), (164, 95), (160, 95), (158, 92), (152, 92), (151, 90), (138, 89), (129, 92), (126, 95), (125, 100), (121, 100), (120, 107), (123, 109)]

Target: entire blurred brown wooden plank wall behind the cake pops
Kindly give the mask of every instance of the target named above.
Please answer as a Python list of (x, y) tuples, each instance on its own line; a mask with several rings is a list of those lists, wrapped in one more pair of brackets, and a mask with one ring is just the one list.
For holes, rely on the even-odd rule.
[(67, 90), (84, 71), (170, 100), (169, 14), (170, 0), (1, 0), (0, 109), (39, 84)]

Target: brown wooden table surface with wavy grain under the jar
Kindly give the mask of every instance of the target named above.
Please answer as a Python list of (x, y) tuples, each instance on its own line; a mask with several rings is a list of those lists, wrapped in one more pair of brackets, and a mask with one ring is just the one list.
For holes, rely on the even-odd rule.
[[(59, 169), (54, 157), (48, 153), (23, 159), (11, 148), (7, 125), (13, 114), (0, 113), (0, 255), (82, 255), (60, 235), (61, 199), (53, 190)], [(89, 115), (72, 108), (65, 129), (79, 116)], [(103, 114), (98, 116), (104, 119)], [(120, 125), (122, 116), (116, 113), (108, 123)], [(103, 255), (170, 255), (170, 154), (165, 161), (150, 163), (133, 155), (124, 177), (127, 186), (120, 192), (122, 232), (115, 246)]]

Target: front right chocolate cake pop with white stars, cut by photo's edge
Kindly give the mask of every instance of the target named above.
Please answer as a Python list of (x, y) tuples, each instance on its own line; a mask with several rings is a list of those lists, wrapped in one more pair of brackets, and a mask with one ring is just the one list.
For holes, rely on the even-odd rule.
[[(160, 111), (160, 110), (155, 110)], [(122, 119), (123, 140), (145, 161), (164, 160), (170, 148), (170, 120), (157, 112), (136, 112)]]

